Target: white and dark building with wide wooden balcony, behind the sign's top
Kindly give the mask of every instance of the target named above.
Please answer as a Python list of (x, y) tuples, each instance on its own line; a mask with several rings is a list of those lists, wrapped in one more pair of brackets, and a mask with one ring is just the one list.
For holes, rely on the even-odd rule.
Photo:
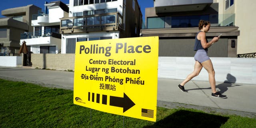
[(61, 18), (61, 53), (75, 53), (76, 42), (138, 37), (142, 13), (137, 0), (70, 0)]

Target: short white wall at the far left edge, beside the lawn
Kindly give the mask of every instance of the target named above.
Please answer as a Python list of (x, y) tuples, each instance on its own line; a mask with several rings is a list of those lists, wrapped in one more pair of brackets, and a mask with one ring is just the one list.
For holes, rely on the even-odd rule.
[(22, 64), (21, 56), (0, 56), (0, 66), (17, 67)]

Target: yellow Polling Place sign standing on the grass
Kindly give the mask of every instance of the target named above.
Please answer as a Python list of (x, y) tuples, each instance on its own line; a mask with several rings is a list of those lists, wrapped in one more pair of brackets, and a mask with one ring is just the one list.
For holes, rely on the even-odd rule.
[(76, 43), (74, 104), (156, 121), (158, 36)]

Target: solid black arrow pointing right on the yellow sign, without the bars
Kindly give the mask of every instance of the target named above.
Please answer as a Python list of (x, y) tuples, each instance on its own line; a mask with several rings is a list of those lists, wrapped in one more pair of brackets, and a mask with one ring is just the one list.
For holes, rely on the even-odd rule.
[(124, 98), (122, 97), (116, 97), (116, 96), (110, 96), (109, 99), (110, 106), (116, 106), (123, 108), (123, 112), (127, 111), (128, 109), (132, 108), (134, 106), (134, 102), (124, 93)]

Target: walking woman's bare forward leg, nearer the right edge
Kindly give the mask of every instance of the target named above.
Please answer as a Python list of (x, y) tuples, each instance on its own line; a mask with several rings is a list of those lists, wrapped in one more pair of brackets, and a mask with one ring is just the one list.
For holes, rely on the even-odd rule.
[(209, 74), (209, 82), (212, 88), (212, 93), (216, 93), (216, 81), (215, 81), (215, 71), (212, 66), (212, 61), (211, 60), (206, 60), (201, 63), (202, 66), (207, 70)]

